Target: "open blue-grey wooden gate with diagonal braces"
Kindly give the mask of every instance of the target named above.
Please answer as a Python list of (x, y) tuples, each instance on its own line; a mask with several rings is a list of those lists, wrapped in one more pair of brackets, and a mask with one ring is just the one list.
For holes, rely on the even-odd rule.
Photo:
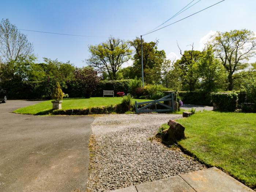
[[(172, 101), (172, 106), (161, 103), (163, 101)], [(142, 104), (147, 104), (147, 105), (145, 105), (142, 108), (138, 108), (138, 106), (142, 105)], [(157, 104), (166, 107), (166, 109), (157, 109)], [(151, 105), (155, 105), (155, 109), (147, 109)], [(155, 101), (145, 101), (145, 102), (140, 102), (140, 103), (137, 103), (137, 101), (135, 101), (136, 114), (150, 113), (150, 112), (173, 111), (173, 106), (174, 106), (174, 95), (173, 95), (173, 93), (170, 93), (169, 95), (166, 95), (165, 97), (162, 97), (161, 99), (158, 99), (158, 100), (155, 100)]]

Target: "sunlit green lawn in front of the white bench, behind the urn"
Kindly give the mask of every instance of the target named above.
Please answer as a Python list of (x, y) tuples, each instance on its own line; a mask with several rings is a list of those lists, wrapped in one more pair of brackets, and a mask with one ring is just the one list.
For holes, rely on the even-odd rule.
[[(85, 98), (68, 98), (63, 99), (62, 109), (84, 109), (95, 106), (108, 106), (108, 105), (116, 105), (121, 103), (122, 97), (91, 97), (89, 99)], [(35, 105), (30, 105), (25, 108), (20, 108), (14, 111), (14, 113), (22, 113), (22, 114), (39, 114), (45, 111), (49, 111), (52, 109), (52, 100), (44, 101), (41, 103), (37, 103)], [(133, 99), (133, 103), (150, 101), (147, 99)]]

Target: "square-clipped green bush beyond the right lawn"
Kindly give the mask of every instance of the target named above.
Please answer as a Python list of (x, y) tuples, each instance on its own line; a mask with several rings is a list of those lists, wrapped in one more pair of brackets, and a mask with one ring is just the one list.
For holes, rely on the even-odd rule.
[(214, 110), (234, 112), (237, 108), (237, 93), (212, 93)]

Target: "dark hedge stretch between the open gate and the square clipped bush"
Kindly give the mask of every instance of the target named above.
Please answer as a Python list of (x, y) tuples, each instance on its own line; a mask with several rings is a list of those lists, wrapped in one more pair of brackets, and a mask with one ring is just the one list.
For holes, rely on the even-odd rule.
[(212, 106), (211, 93), (205, 91), (178, 91), (183, 103)]

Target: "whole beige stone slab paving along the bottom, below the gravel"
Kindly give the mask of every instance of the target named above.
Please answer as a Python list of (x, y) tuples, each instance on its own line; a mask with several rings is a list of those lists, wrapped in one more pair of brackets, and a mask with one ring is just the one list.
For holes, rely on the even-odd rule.
[(216, 167), (112, 192), (255, 192)]

